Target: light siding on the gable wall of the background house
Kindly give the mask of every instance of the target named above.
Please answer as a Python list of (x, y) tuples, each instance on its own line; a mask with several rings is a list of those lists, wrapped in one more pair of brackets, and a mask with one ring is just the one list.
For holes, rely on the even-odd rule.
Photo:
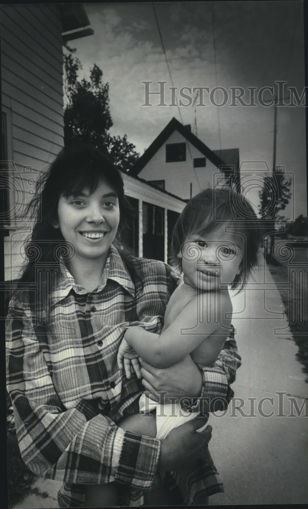
[[(183, 142), (186, 143), (186, 161), (166, 162), (165, 146)], [(204, 157), (204, 155), (187, 142), (182, 134), (174, 131), (145, 165), (138, 177), (145, 180), (164, 180), (166, 191), (176, 194), (183, 200), (189, 200), (190, 183), (193, 196), (204, 187), (213, 187), (214, 174), (219, 173), (219, 169), (209, 159), (206, 159), (205, 168), (194, 168), (195, 157)]]

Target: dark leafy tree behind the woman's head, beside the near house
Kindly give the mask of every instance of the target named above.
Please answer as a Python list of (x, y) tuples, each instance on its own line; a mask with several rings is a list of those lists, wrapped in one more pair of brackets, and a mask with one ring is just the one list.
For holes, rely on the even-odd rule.
[(82, 69), (79, 59), (73, 56), (75, 49), (68, 48), (64, 56), (66, 107), (64, 110), (64, 144), (92, 143), (107, 153), (116, 166), (128, 172), (138, 159), (133, 144), (126, 134), (111, 136), (113, 125), (109, 111), (109, 85), (103, 83), (102, 70), (94, 64), (90, 77), (78, 79)]

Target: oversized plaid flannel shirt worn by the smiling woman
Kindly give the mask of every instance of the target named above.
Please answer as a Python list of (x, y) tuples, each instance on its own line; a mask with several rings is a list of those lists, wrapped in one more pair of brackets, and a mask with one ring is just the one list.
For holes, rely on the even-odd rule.
[[(128, 272), (111, 246), (101, 285), (92, 292), (61, 266), (44, 327), (29, 292), (20, 290), (11, 300), (7, 387), (19, 448), (34, 473), (63, 480), (61, 506), (82, 506), (83, 484), (126, 485), (139, 493), (127, 502), (134, 505), (142, 503), (140, 490), (151, 488), (160, 441), (118, 428), (120, 418), (138, 412), (143, 386), (123, 376), (116, 356), (123, 327), (163, 316), (177, 282), (169, 266), (154, 260), (136, 259)], [(229, 401), (239, 364), (229, 337), (213, 367), (199, 366), (206, 410), (213, 399)]]

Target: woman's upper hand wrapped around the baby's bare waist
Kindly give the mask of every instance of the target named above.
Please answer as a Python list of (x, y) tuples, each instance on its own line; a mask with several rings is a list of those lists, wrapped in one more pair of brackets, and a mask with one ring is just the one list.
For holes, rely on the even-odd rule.
[(164, 369), (142, 361), (141, 376), (149, 398), (159, 403), (163, 403), (162, 394), (166, 394), (164, 403), (168, 403), (167, 397), (199, 398), (201, 395), (202, 374), (190, 355)]

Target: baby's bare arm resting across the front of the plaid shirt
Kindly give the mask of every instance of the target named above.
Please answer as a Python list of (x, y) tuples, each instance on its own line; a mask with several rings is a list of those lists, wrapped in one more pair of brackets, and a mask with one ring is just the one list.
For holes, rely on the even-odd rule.
[[(217, 321), (211, 320), (208, 313), (200, 309), (199, 299), (200, 296), (192, 299), (160, 335), (133, 326), (125, 332), (125, 341), (138, 356), (154, 367), (163, 368), (175, 364), (217, 329)], [(216, 360), (221, 346), (221, 336), (214, 337), (205, 355), (208, 356), (208, 364)]]

